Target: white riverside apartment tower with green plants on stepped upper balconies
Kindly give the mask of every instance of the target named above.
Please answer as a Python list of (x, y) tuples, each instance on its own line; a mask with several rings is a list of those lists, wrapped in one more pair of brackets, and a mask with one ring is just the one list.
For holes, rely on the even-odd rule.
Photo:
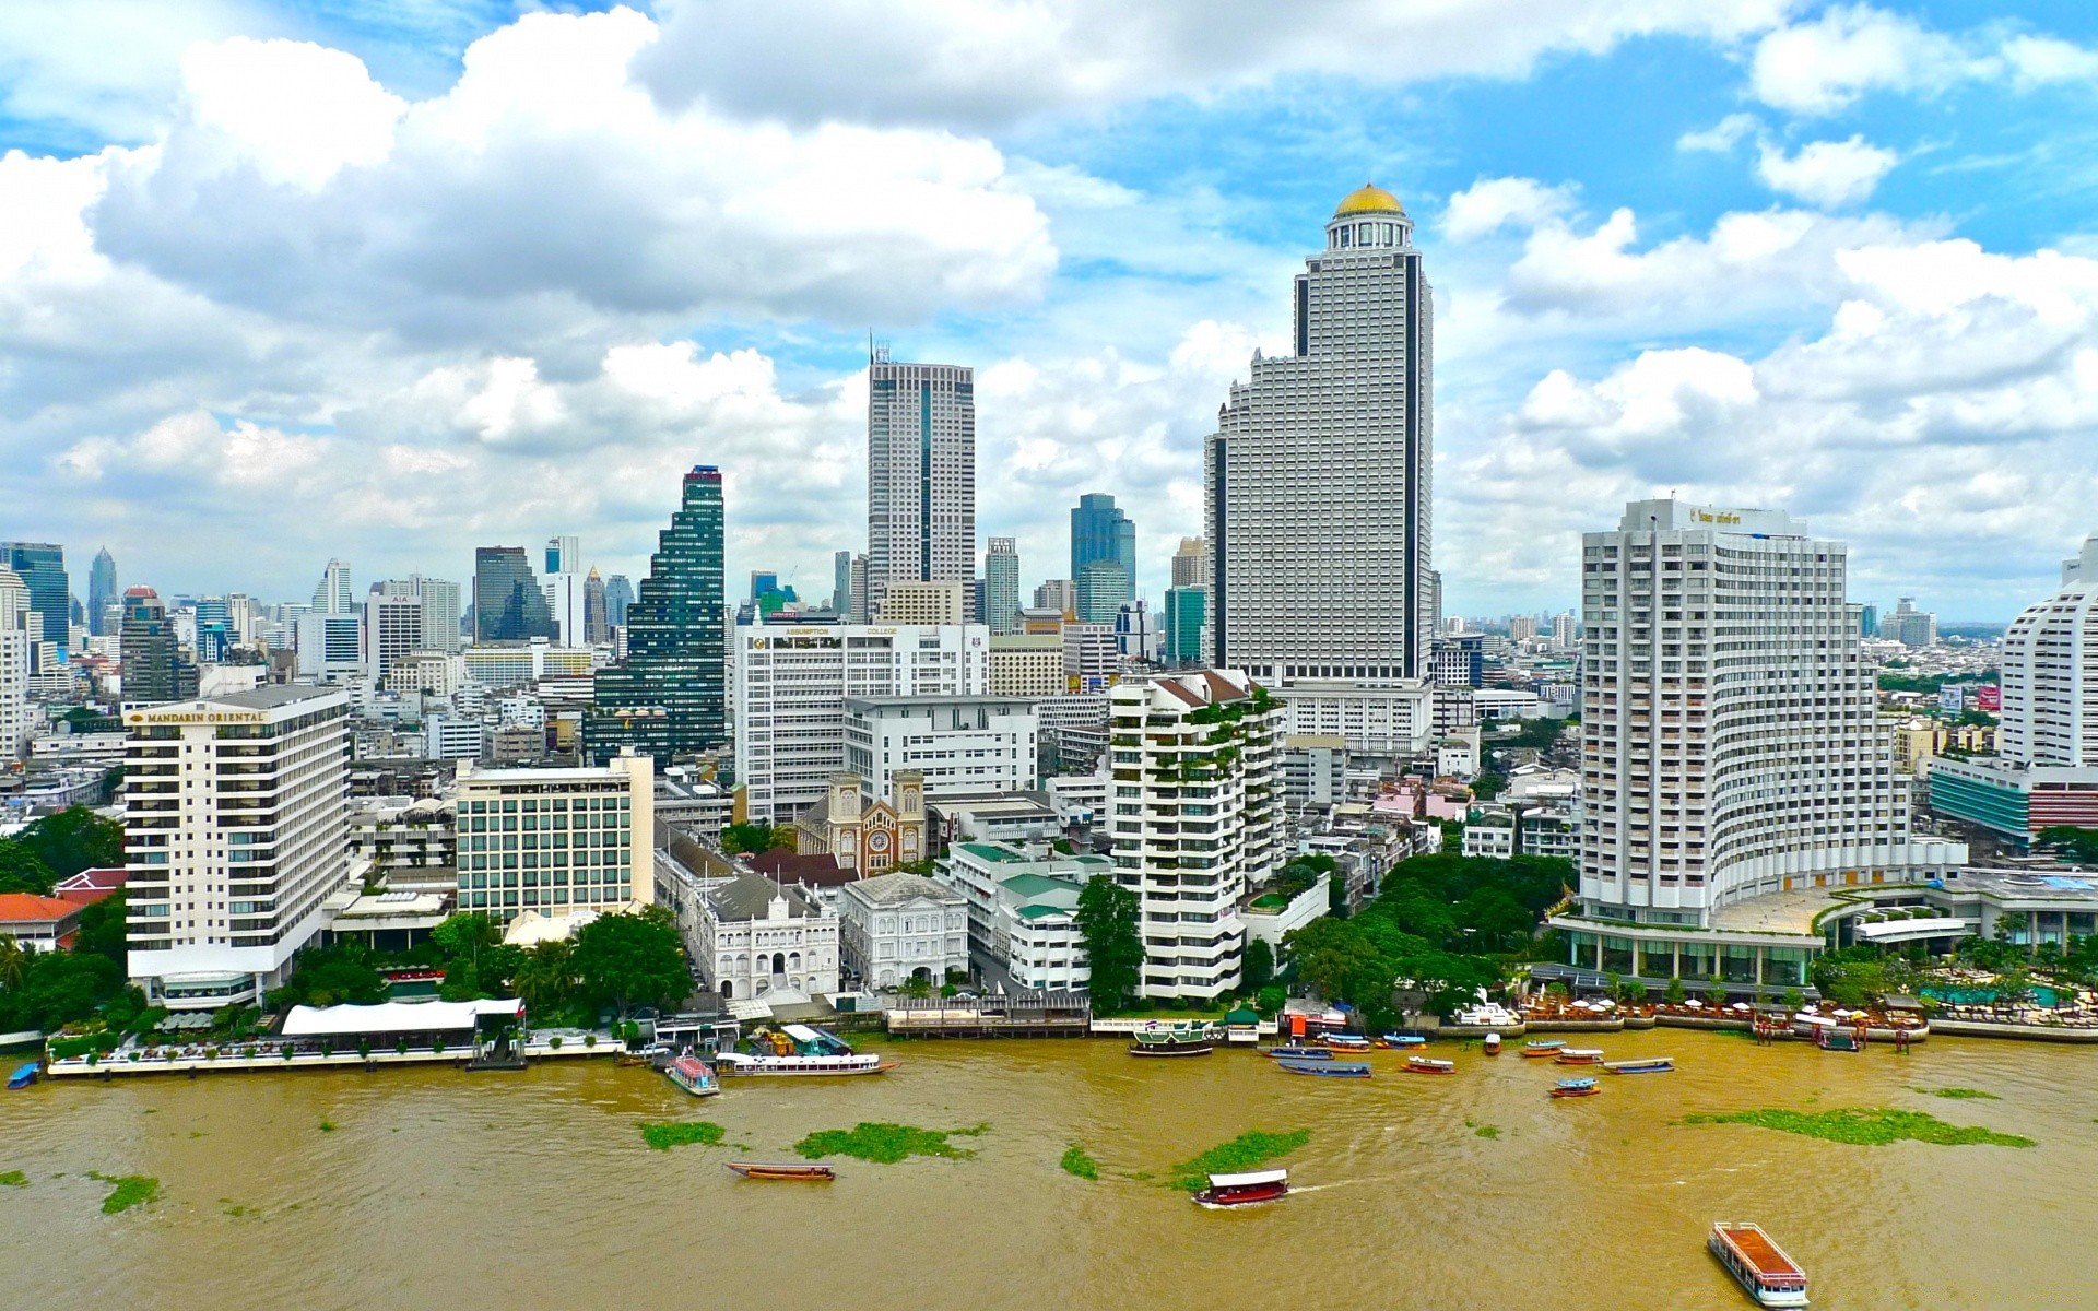
[(1139, 992), (1229, 992), (1246, 948), (1238, 906), (1282, 862), (1282, 703), (1244, 673), (1204, 669), (1116, 684), (1108, 715), (1114, 881), (1146, 925)]

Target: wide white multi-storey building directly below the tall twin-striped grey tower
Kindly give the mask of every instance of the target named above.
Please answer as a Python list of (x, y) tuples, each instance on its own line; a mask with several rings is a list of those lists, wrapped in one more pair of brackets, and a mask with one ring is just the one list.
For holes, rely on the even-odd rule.
[(743, 625), (732, 650), (736, 780), (749, 818), (787, 824), (845, 768), (845, 701), (984, 696), (990, 629), (969, 625)]

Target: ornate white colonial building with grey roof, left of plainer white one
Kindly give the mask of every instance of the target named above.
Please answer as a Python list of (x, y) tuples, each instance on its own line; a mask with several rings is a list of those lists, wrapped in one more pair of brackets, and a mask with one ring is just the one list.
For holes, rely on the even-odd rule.
[(837, 917), (797, 887), (736, 875), (699, 898), (701, 977), (741, 1003), (808, 1003), (837, 992)]

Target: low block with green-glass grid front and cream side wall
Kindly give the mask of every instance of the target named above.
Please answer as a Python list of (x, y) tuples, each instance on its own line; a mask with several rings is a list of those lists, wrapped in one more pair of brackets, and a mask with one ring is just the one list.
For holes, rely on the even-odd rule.
[(655, 902), (655, 761), (459, 770), (459, 910), (510, 923)]

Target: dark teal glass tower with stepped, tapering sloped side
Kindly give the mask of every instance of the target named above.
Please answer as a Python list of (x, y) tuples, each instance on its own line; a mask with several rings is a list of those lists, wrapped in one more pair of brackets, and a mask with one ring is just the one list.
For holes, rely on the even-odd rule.
[(598, 671), (583, 717), (592, 757), (631, 747), (661, 768), (728, 740), (724, 531), (722, 470), (694, 466), (627, 606), (627, 659)]

